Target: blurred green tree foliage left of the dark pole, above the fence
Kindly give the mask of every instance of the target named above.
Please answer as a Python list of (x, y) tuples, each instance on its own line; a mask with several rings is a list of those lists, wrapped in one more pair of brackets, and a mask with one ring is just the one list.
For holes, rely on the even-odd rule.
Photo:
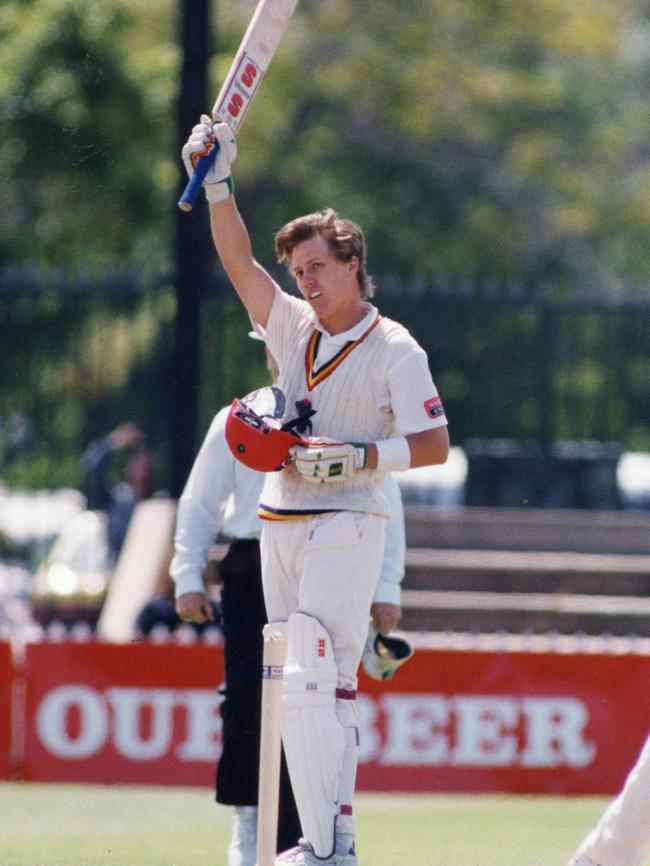
[(0, 7), (5, 261), (168, 261), (178, 65), (170, 9), (143, 0)]

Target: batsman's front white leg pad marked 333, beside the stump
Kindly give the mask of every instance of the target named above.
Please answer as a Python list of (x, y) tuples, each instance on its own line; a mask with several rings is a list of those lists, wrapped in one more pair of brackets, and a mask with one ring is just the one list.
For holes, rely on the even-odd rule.
[(345, 735), (336, 714), (332, 642), (314, 617), (291, 614), (284, 665), (282, 739), (305, 839), (317, 857), (334, 852)]

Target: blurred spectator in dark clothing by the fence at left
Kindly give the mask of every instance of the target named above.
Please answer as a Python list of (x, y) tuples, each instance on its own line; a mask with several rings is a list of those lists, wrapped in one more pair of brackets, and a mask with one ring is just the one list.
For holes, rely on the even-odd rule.
[[(115, 455), (128, 454), (124, 478), (115, 473)], [(153, 460), (146, 437), (135, 424), (122, 424), (90, 443), (81, 458), (84, 471), (84, 493), (91, 511), (105, 511), (108, 516), (108, 545), (112, 564), (117, 561), (124, 543), (131, 514), (141, 499), (151, 496)]]

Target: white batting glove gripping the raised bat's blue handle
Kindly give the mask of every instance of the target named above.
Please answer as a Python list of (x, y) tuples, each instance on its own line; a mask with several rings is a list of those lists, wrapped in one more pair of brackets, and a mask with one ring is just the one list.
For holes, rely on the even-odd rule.
[(185, 168), (191, 177), (197, 160), (212, 151), (215, 141), (219, 145), (219, 153), (203, 181), (205, 197), (209, 202), (224, 201), (232, 195), (230, 165), (237, 156), (235, 134), (227, 123), (215, 123), (207, 114), (202, 114), (201, 122), (192, 129), (181, 151)]

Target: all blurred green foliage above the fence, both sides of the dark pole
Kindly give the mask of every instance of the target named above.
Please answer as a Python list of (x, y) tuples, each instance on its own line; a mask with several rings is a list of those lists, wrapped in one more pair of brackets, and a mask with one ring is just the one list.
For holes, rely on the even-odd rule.
[[(2, 5), (6, 260), (168, 260), (177, 5)], [(215, 0), (211, 92), (253, 7)], [(644, 279), (648, 26), (640, 0), (303, 0), (240, 136), (258, 255), (332, 205), (378, 276)]]

